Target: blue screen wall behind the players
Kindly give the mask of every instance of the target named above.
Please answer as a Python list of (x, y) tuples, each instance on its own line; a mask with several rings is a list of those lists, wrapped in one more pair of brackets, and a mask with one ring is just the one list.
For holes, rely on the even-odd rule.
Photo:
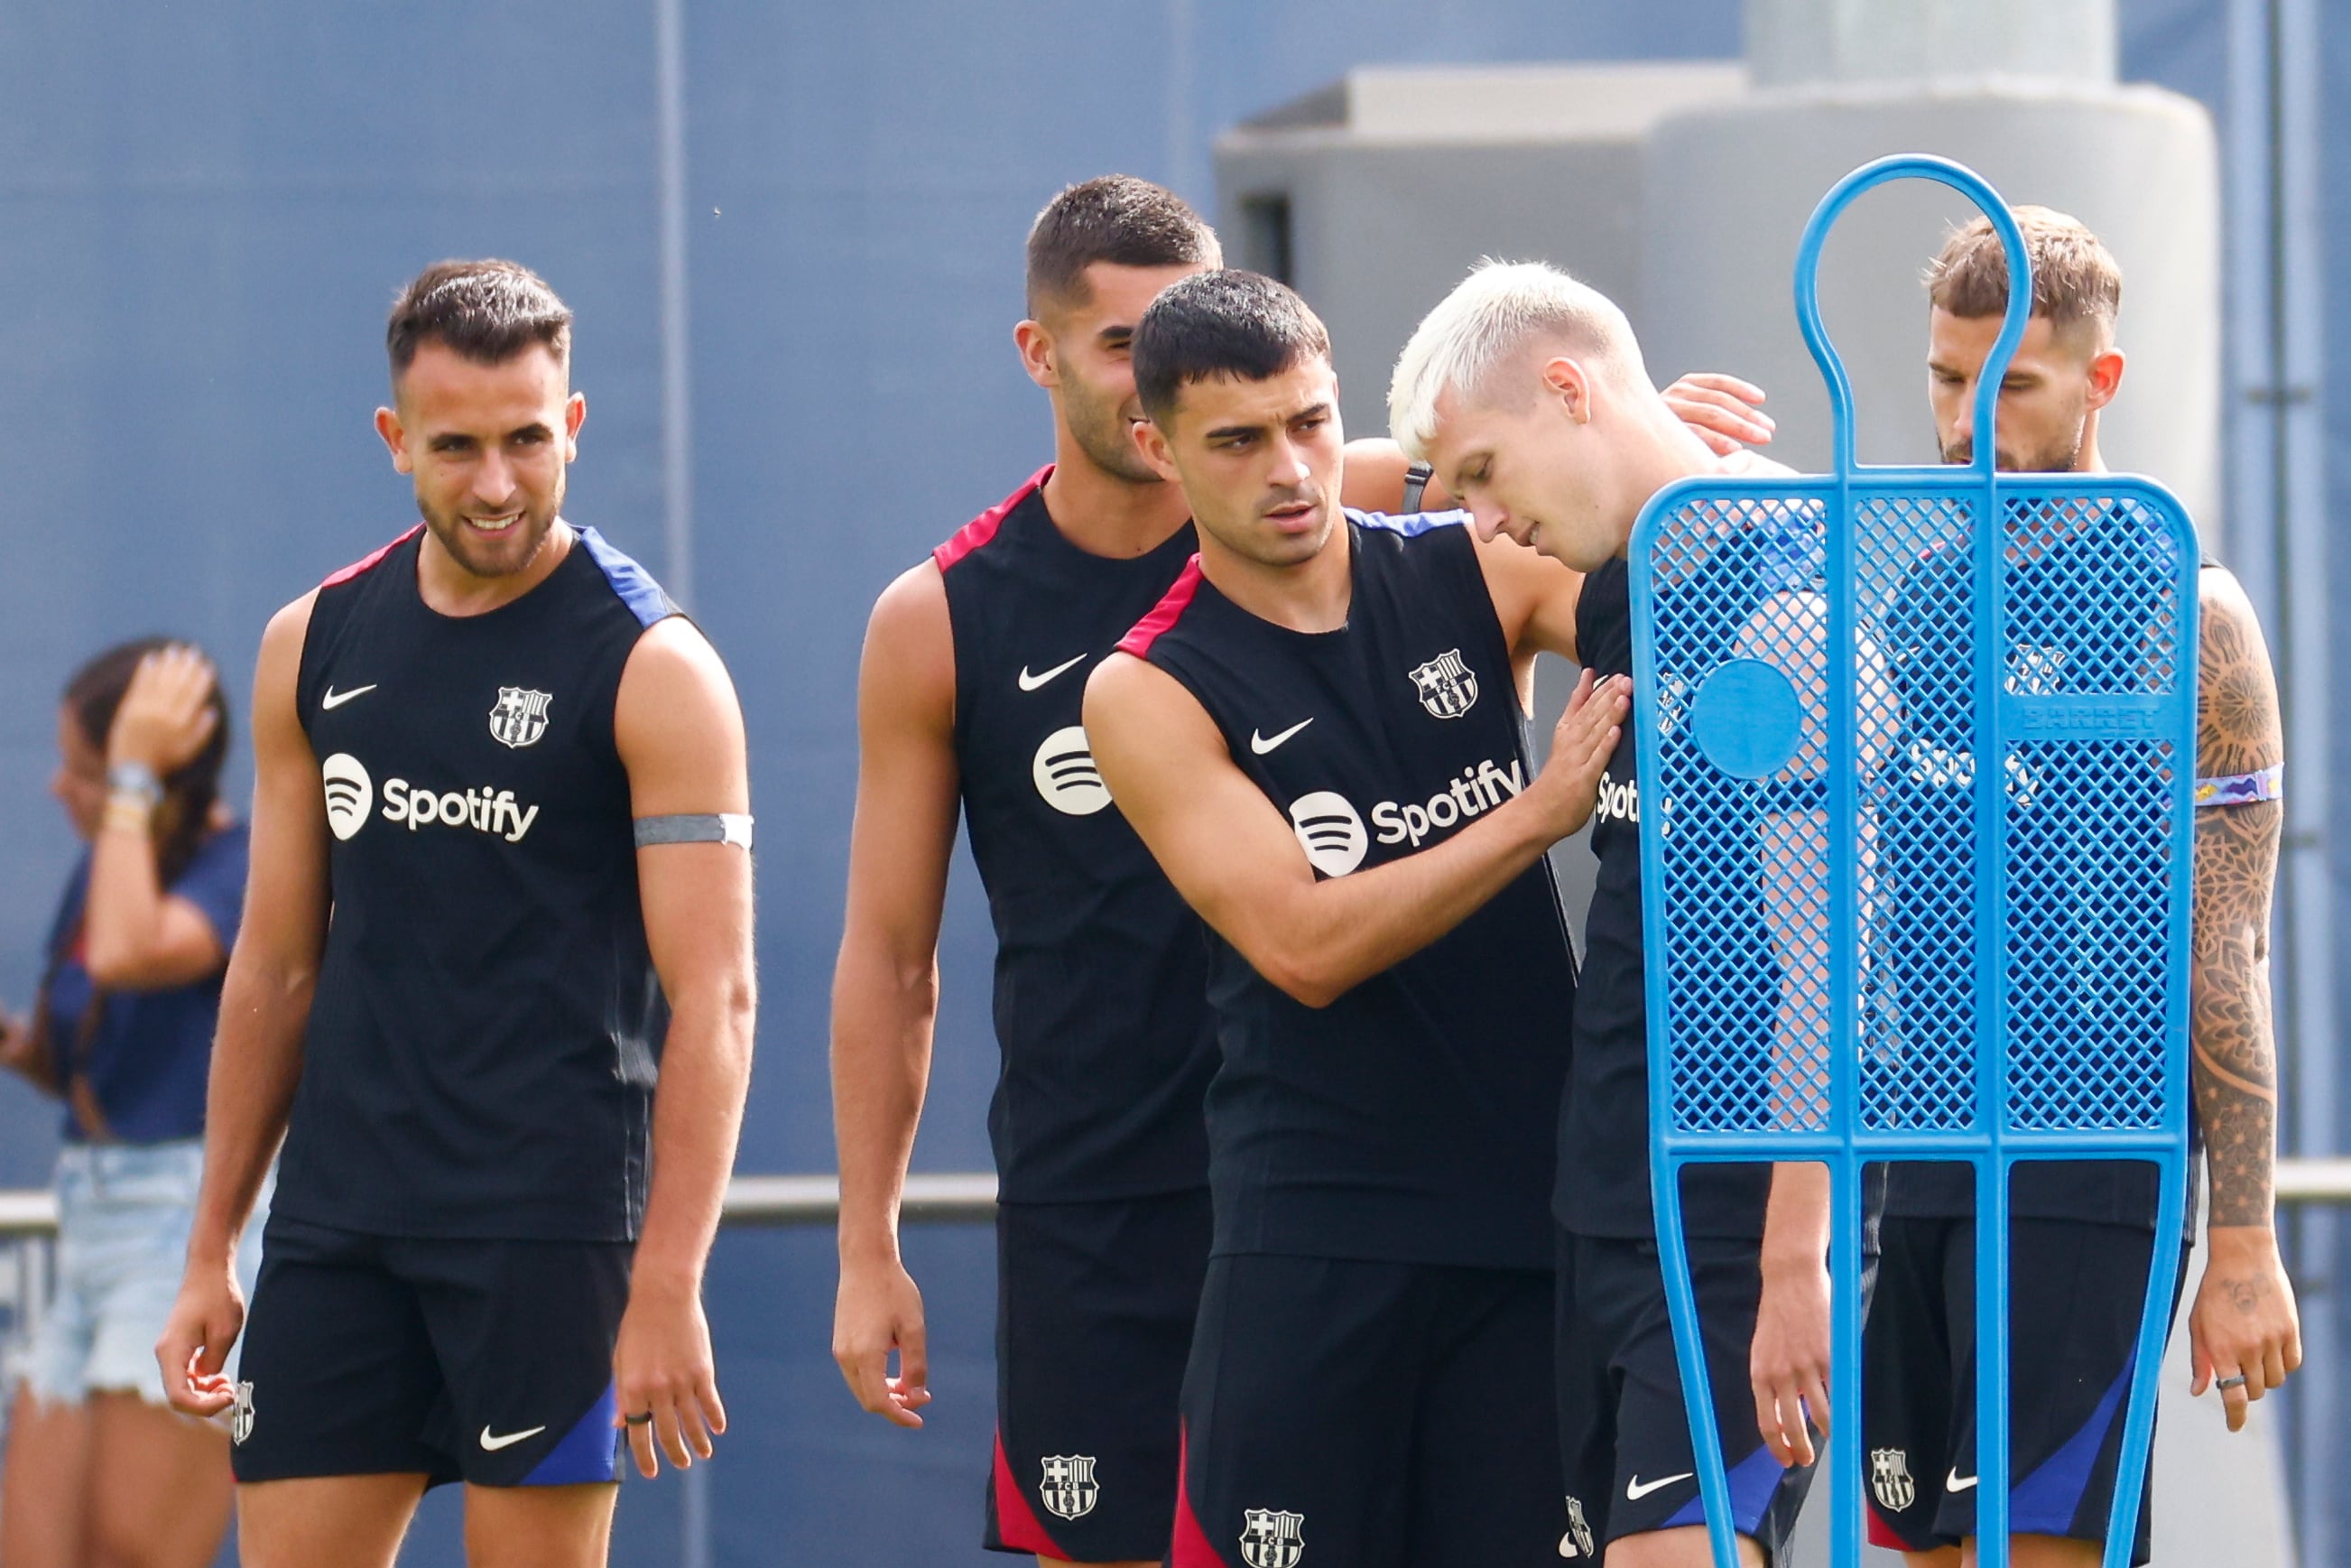
[[(2219, 0), (2121, 16), (2125, 78), (2222, 110)], [(2351, 87), (2351, 21), (2330, 21), (2327, 80)], [(1039, 202), (1126, 169), (1208, 207), (1220, 127), (1357, 63), (1737, 52), (1737, 0), (686, 5), (696, 609), (750, 712), (766, 893), (743, 1171), (832, 1168), (858, 635), (898, 569), (1046, 451), (1009, 343)], [(242, 693), (270, 609), (414, 520), (367, 421), (381, 313), (418, 266), (508, 254), (564, 292), (590, 400), (569, 510), (661, 571), (654, 56), (647, 0), (0, 7), (0, 1001), (33, 987), (73, 853), (45, 797), (66, 670), (160, 628)], [(2320, 141), (2344, 146), (2351, 92), (2327, 99)], [(2351, 256), (2351, 160), (2323, 179), (2327, 249)], [(2351, 364), (2351, 308), (2330, 350)], [(2351, 515), (2351, 397), (2330, 454)], [(994, 1046), (969, 863), (943, 969), (917, 1166), (980, 1168)], [(0, 1086), (0, 1185), (45, 1180), (54, 1121)], [(990, 1561), (971, 1544), (990, 1237), (917, 1227), (907, 1253), (936, 1335), (922, 1434), (839, 1387), (828, 1232), (722, 1239), (712, 1561)], [(451, 1502), (404, 1561), (458, 1561)], [(630, 1486), (616, 1559), (672, 1561), (679, 1507), (675, 1479)]]

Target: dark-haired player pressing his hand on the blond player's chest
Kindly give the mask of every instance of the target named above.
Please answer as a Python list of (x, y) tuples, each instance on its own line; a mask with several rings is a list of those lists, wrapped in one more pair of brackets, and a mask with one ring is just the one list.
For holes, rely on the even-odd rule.
[(1458, 515), (1340, 508), (1328, 339), (1211, 273), (1136, 336), (1201, 559), (1086, 689), (1112, 795), (1215, 931), (1215, 1255), (1185, 1371), (1178, 1568), (1556, 1561), (1549, 1103), (1573, 997), (1542, 851), (1615, 689), (1528, 776), (1566, 574)]

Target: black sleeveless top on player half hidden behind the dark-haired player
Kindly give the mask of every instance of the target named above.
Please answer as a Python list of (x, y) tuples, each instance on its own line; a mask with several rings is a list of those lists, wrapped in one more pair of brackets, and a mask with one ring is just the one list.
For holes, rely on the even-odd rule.
[(1192, 557), (1070, 543), (1051, 468), (933, 550), (955, 635), (955, 759), (997, 931), (1002, 1048), (987, 1133), (1004, 1201), (1185, 1192), (1208, 1180), (1208, 950), (1093, 769), (1086, 677)]

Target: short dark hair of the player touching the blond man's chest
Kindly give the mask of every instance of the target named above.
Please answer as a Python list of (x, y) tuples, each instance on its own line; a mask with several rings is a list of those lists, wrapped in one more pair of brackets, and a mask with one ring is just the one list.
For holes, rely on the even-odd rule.
[(1218, 268), (1168, 284), (1136, 322), (1136, 395), (1164, 418), (1187, 381), (1265, 381), (1331, 357), (1321, 317), (1288, 284)]

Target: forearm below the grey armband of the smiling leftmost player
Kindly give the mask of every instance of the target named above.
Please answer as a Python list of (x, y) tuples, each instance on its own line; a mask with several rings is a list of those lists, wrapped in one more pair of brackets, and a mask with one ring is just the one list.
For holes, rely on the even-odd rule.
[(654, 1091), (654, 1187), (637, 1234), (637, 1281), (701, 1286), (743, 1131), (750, 1048), (748, 980), (672, 1001)]

